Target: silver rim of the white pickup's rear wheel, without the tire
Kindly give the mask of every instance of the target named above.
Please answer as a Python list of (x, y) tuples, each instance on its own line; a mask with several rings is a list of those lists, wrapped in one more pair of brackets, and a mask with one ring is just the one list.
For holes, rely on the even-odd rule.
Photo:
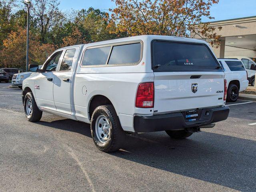
[(106, 143), (108, 142), (109, 138), (110, 138), (110, 123), (108, 121), (108, 119), (106, 118), (106, 116), (104, 115), (100, 115), (97, 117), (96, 119), (96, 123), (95, 123), (95, 132), (96, 132), (96, 136), (98, 138), (98, 140), (101, 143)]

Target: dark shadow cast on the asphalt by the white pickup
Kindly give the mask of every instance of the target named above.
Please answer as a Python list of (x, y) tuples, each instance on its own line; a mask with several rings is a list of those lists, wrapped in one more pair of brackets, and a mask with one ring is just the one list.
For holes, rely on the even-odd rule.
[[(74, 120), (38, 122), (91, 137), (90, 125)], [(127, 136), (111, 155), (167, 172), (241, 191), (256, 191), (256, 142), (200, 132), (172, 140), (164, 132)]]

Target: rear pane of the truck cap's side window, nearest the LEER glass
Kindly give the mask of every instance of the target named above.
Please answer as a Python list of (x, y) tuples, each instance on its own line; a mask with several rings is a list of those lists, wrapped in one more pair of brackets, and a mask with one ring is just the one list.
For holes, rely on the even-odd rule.
[(141, 43), (113, 46), (108, 64), (135, 64), (140, 61)]

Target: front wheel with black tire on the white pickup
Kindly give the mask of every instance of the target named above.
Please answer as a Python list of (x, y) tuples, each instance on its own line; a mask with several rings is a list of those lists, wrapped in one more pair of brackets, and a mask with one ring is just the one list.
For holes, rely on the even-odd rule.
[[(32, 108), (32, 112), (30, 113), (27, 108), (27, 105), (28, 105), (28, 102), (31, 103), (30, 105), (30, 109)], [(27, 118), (28, 121), (30, 122), (37, 122), (37, 121), (40, 121), (40, 119), (42, 118), (42, 111), (40, 111), (38, 109), (38, 106), (36, 104), (36, 101), (34, 99), (34, 96), (32, 94), (32, 92), (28, 92), (26, 95), (25, 95), (25, 98), (24, 98), (24, 111), (25, 111), (25, 116)]]

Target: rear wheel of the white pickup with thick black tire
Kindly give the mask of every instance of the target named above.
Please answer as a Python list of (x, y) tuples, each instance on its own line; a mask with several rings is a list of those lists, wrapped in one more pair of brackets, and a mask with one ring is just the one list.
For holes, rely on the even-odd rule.
[[(97, 128), (105, 127), (104, 125), (100, 126), (101, 118), (102, 120), (104, 120), (105, 118), (105, 122), (108, 122), (107, 126), (105, 124), (105, 126), (108, 128), (108, 135), (105, 137), (106, 140), (104, 141), (102, 141), (104, 139), (104, 135), (101, 134), (100, 136), (99, 131), (97, 130), (96, 132), (95, 126), (97, 123), (99, 125), (99, 127), (97, 126)], [(104, 132), (103, 128), (100, 131)], [(125, 138), (125, 132), (121, 127), (116, 111), (112, 105), (98, 106), (94, 110), (91, 119), (91, 134), (94, 144), (99, 150), (103, 152), (114, 152), (122, 147), (122, 143), (124, 142)]]

